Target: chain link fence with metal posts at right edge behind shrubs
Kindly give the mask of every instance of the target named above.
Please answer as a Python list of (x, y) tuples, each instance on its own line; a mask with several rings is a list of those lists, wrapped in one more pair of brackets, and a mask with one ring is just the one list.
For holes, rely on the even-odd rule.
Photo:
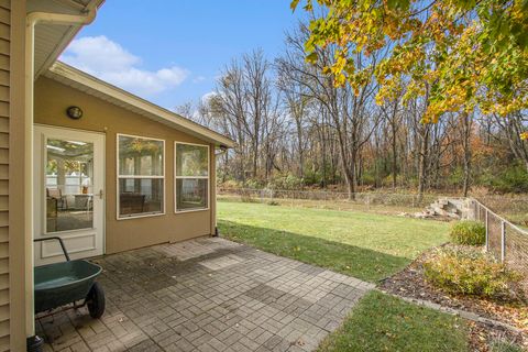
[(486, 251), (497, 260), (527, 277), (528, 287), (528, 230), (498, 216), (477, 199), (471, 199), (470, 219), (486, 226)]

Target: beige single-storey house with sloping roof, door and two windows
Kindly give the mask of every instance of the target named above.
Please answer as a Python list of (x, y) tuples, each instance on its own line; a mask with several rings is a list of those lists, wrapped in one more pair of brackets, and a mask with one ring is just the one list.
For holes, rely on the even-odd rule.
[(102, 0), (0, 0), (0, 351), (34, 337), (33, 266), (216, 233), (233, 142), (57, 62)]

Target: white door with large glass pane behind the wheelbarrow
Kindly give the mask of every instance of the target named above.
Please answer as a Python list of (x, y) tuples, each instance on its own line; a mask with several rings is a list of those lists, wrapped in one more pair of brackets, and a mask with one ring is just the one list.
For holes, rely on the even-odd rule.
[[(35, 125), (34, 238), (61, 237), (72, 258), (105, 252), (105, 135)], [(35, 265), (64, 261), (57, 241), (34, 244)]]

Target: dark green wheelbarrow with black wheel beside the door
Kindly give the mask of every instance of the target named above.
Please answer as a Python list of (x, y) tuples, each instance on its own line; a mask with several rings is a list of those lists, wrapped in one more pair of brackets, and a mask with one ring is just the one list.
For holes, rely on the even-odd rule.
[(82, 260), (70, 261), (66, 246), (58, 237), (34, 241), (48, 240), (58, 241), (66, 262), (35, 266), (35, 314), (73, 304), (69, 308), (88, 306), (90, 316), (100, 318), (105, 312), (105, 292), (96, 278), (102, 268)]

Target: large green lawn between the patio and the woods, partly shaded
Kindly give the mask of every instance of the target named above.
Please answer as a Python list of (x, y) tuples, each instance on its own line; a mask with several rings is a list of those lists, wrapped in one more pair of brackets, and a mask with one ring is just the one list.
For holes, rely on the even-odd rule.
[(218, 204), (222, 237), (376, 282), (448, 241), (449, 224), (367, 212)]

